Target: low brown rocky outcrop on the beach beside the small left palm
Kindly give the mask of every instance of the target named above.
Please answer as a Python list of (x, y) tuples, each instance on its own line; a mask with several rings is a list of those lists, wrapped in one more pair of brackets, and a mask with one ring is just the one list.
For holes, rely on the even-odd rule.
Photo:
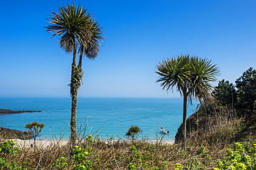
[(0, 127), (0, 140), (3, 139), (13, 139), (13, 138), (19, 138), (19, 139), (30, 139), (32, 138), (32, 132), (31, 131), (18, 131), (15, 129), (8, 129), (4, 127)]

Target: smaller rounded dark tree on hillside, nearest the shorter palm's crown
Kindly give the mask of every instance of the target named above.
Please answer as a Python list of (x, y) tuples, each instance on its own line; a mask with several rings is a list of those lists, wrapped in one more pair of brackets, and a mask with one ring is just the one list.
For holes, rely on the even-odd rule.
[(237, 102), (235, 85), (224, 79), (219, 81), (218, 86), (214, 88), (212, 96), (214, 96), (217, 105), (223, 107), (232, 107)]

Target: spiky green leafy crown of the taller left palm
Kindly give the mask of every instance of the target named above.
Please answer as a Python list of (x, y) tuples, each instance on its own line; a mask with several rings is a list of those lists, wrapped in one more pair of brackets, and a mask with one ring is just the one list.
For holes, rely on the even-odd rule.
[(92, 14), (82, 6), (75, 4), (62, 6), (59, 12), (52, 12), (51, 25), (46, 26), (46, 31), (53, 32), (53, 36), (60, 36), (60, 47), (67, 53), (79, 50), (89, 59), (94, 59), (99, 52), (99, 41), (103, 40), (102, 28), (92, 18)]

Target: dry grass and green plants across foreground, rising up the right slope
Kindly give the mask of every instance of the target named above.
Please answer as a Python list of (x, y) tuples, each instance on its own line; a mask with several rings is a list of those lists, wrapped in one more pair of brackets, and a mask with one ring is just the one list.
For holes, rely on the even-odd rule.
[[(201, 107), (203, 108), (203, 107)], [(200, 109), (199, 109), (200, 111)], [(256, 169), (256, 140), (250, 121), (231, 113), (197, 116), (205, 128), (190, 129), (187, 149), (181, 144), (140, 139), (100, 140), (87, 134), (70, 144), (26, 147), (12, 140), (0, 144), (0, 169)], [(196, 115), (196, 114), (194, 114)], [(255, 115), (255, 114), (253, 114)], [(201, 116), (201, 117), (200, 117)], [(189, 119), (190, 120), (190, 119)], [(191, 121), (192, 122), (192, 121)], [(248, 124), (250, 123), (250, 124)], [(245, 133), (246, 132), (246, 133)], [(134, 138), (132, 138), (134, 137)]]

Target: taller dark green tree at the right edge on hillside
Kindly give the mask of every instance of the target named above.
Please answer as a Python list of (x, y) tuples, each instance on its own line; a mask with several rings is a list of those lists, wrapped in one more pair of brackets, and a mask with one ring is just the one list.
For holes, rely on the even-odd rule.
[(237, 87), (237, 109), (251, 114), (256, 109), (256, 70), (250, 67), (235, 81)]

